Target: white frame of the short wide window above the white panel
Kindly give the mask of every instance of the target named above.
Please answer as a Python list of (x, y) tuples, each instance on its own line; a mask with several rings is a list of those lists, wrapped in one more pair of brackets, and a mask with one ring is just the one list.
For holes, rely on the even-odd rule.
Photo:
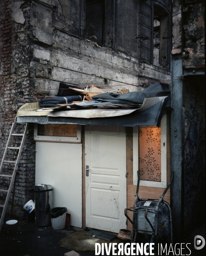
[(81, 125), (77, 125), (77, 136), (76, 137), (64, 137), (64, 136), (61, 137), (61, 136), (38, 135), (38, 124), (35, 123), (34, 124), (34, 140), (35, 141), (46, 141), (46, 142), (81, 143)]

